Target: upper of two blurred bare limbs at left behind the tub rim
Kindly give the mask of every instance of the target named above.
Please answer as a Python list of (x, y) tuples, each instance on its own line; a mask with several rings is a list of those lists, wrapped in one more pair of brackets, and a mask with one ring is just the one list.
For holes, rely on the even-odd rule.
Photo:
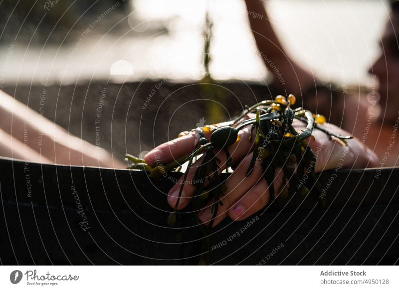
[(114, 163), (104, 149), (69, 134), (13, 97), (0, 92), (0, 99), (0, 129), (48, 161), (66, 165), (123, 167), (119, 162)]

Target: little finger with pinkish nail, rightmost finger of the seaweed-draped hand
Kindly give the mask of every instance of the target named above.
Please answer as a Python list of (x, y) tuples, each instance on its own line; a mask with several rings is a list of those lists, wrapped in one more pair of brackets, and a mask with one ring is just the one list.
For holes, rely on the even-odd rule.
[[(284, 172), (281, 168), (276, 168), (273, 187), (275, 196), (278, 195), (278, 189), (283, 183)], [(269, 185), (262, 178), (254, 187), (252, 187), (242, 198), (238, 199), (228, 211), (229, 217), (233, 221), (242, 221), (249, 216), (263, 209), (270, 200)]]

